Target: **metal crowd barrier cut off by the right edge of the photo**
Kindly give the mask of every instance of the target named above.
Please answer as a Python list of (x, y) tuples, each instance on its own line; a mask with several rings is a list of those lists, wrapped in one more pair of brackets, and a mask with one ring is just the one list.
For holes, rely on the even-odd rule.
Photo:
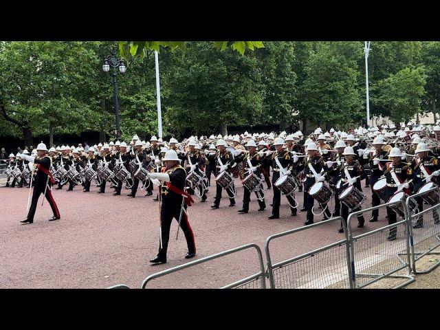
[[(436, 192), (440, 195), (440, 188), (432, 188), (426, 192), (421, 192), (408, 197), (406, 200), (406, 209), (409, 210), (410, 208), (410, 200), (417, 203), (418, 197), (421, 198), (431, 192)], [(426, 274), (440, 265), (440, 261), (437, 259), (437, 262), (434, 262), (431, 267), (428, 267), (428, 269), (417, 270), (417, 261), (423, 256), (440, 254), (440, 252), (433, 252), (433, 250), (440, 246), (440, 203), (427, 207), (426, 210), (410, 215), (410, 256), (412, 272), (414, 274)], [(412, 228), (412, 225), (416, 225), (420, 218), (423, 219), (423, 227)]]

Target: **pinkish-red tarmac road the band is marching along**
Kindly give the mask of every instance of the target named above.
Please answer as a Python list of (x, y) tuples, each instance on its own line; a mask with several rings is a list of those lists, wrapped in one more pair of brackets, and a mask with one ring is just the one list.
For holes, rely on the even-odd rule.
[[(41, 206), (41, 197), (34, 223), (30, 225), (19, 222), (26, 217), (28, 188), (2, 187), (0, 288), (105, 288), (120, 283), (139, 288), (150, 274), (246, 243), (259, 245), (265, 261), (267, 236), (303, 226), (305, 212), (298, 211), (292, 217), (287, 199), (282, 197), (281, 218), (268, 220), (272, 190), (265, 189), (265, 211), (257, 211), (258, 204), (252, 195), (250, 212), (238, 214), (243, 187), (239, 179), (235, 183), (236, 206), (228, 207), (229, 200), (223, 191), (220, 208), (211, 210), (215, 195), (212, 186), (206, 203), (200, 203), (196, 197), (195, 205), (189, 208), (197, 246), (194, 259), (184, 259), (187, 252), (184, 234), (180, 230), (176, 241), (177, 221), (173, 222), (168, 263), (164, 265), (148, 262), (157, 254), (159, 245), (159, 206), (153, 201), (157, 187), (151, 197), (138, 190), (137, 197), (131, 199), (126, 196), (130, 191), (126, 189), (122, 189), (122, 195), (113, 196), (109, 184), (105, 194), (98, 194), (98, 188), (93, 185), (90, 192), (83, 192), (81, 186), (66, 191), (65, 186), (63, 190), (53, 190), (61, 220), (48, 221), (52, 212), (47, 201)], [(363, 189), (368, 196), (363, 204), (366, 208), (371, 206), (371, 188)], [(301, 208), (303, 192), (296, 192), (296, 198)], [(360, 234), (386, 225), (385, 215), (383, 210), (380, 221), (369, 223), (371, 215), (366, 214), (365, 228), (356, 228), (355, 221), (354, 232)], [(315, 222), (321, 219), (322, 216), (317, 216)], [(274, 241), (270, 247), (273, 262), (343, 239), (344, 234), (338, 233), (338, 228), (336, 221)], [(221, 287), (258, 271), (256, 252), (246, 250), (156, 279), (148, 287)]]

